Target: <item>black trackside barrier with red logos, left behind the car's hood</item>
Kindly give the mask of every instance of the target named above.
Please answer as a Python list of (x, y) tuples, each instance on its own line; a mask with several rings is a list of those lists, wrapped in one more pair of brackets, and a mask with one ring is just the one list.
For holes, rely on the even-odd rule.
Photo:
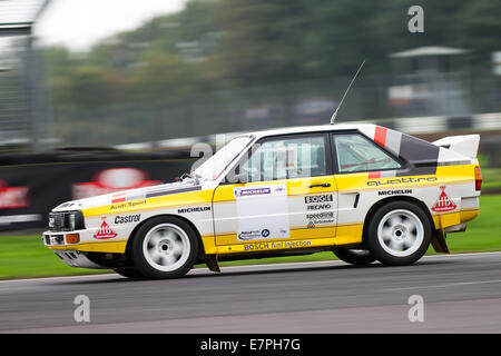
[(181, 151), (0, 156), (0, 230), (41, 228), (61, 202), (174, 181), (194, 162)]

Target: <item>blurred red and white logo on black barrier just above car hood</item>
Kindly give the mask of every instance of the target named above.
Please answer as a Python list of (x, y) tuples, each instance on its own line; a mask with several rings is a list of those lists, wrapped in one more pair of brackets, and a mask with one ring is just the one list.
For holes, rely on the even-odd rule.
[(148, 174), (140, 169), (110, 168), (99, 171), (92, 178), (92, 181), (73, 184), (71, 186), (71, 195), (73, 199), (81, 199), (127, 189), (156, 186), (161, 182), (160, 180), (150, 180)]

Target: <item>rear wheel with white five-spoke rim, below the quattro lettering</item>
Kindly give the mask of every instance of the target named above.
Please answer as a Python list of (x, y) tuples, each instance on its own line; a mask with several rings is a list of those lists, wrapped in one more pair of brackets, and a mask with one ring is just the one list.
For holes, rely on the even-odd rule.
[(375, 211), (367, 228), (367, 247), (384, 265), (405, 266), (428, 250), (432, 227), (426, 214), (409, 201), (393, 201)]

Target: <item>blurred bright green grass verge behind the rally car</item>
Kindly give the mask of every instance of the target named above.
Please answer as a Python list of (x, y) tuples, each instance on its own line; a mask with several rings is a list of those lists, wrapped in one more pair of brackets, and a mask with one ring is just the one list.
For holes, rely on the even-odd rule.
[[(465, 233), (450, 234), (449, 249), (453, 254), (501, 251), (501, 196), (480, 198), (480, 216), (468, 224)], [(431, 249), (429, 251), (433, 254)], [(316, 261), (335, 259), (332, 253), (306, 256), (273, 257), (222, 263), (222, 266), (273, 263)], [(197, 266), (204, 267), (204, 265)], [(0, 237), (0, 279), (100, 274), (107, 270), (68, 267), (39, 236)]]

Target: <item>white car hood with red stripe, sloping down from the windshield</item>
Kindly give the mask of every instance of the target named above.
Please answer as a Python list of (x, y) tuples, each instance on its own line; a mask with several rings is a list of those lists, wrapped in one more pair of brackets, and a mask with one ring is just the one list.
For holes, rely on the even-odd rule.
[(139, 199), (146, 199), (151, 198), (155, 196), (160, 195), (174, 195), (174, 194), (180, 194), (186, 192), (190, 190), (202, 189), (202, 186), (199, 184), (196, 184), (195, 181), (176, 181), (176, 182), (169, 182), (165, 185), (158, 185), (158, 186), (150, 186), (145, 188), (136, 188), (136, 189), (129, 189), (129, 190), (120, 190), (115, 191), (101, 196), (85, 198), (85, 199), (78, 199), (78, 200), (71, 200), (63, 202), (56, 208), (52, 209), (52, 211), (70, 211), (70, 210), (82, 210), (82, 209), (90, 209), (90, 208), (97, 208), (101, 206), (107, 206), (111, 204), (119, 204), (124, 201), (131, 201), (131, 200), (139, 200)]

